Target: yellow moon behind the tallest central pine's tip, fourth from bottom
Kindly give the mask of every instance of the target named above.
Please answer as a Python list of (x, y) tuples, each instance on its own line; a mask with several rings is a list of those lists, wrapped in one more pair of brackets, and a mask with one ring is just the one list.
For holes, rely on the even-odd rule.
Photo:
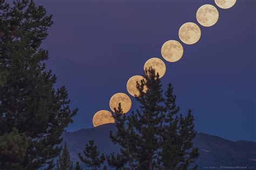
[(159, 74), (159, 78), (163, 77), (166, 71), (166, 66), (163, 62), (163, 60), (159, 58), (150, 58), (146, 61), (144, 65), (144, 70), (149, 69), (149, 67), (152, 67), (152, 69), (156, 70), (156, 73)]

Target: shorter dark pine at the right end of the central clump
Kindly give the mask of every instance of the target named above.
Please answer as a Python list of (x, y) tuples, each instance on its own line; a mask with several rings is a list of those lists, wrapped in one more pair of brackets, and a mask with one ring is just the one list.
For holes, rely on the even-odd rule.
[(158, 162), (164, 169), (188, 169), (199, 156), (198, 148), (193, 148), (192, 141), (196, 137), (194, 118), (191, 110), (188, 110), (186, 117), (177, 115), (179, 107), (176, 106), (176, 96), (172, 93), (173, 87), (169, 84), (165, 92), (166, 117), (163, 133), (160, 134), (163, 146), (158, 153)]

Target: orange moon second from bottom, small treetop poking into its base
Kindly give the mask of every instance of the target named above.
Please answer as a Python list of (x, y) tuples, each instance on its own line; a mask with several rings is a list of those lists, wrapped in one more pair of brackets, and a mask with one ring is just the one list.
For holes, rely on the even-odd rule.
[(109, 106), (111, 110), (114, 112), (114, 108), (118, 108), (119, 103), (121, 103), (121, 107), (123, 109), (123, 113), (129, 112), (132, 106), (132, 100), (125, 93), (116, 93), (114, 94), (109, 101)]

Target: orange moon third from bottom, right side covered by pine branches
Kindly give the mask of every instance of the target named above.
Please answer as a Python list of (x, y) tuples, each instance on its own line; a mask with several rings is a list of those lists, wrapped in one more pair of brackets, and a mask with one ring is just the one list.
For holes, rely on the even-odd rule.
[[(137, 85), (137, 81), (139, 84), (141, 84), (140, 82), (144, 80), (146, 82), (146, 79), (143, 76), (132, 76), (126, 84), (126, 89), (129, 92), (129, 94), (131, 94), (131, 96), (139, 96), (139, 90), (137, 89), (136, 85)], [(144, 86), (143, 92), (146, 93), (146, 86)]]

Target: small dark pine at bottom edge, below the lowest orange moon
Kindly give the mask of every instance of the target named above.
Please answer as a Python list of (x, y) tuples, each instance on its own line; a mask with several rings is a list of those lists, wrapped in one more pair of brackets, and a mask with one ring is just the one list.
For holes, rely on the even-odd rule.
[(84, 164), (86, 164), (88, 167), (93, 167), (95, 169), (100, 168), (106, 159), (104, 154), (99, 153), (97, 146), (94, 145), (93, 140), (89, 140), (89, 144), (86, 144), (83, 153), (85, 158), (83, 158), (80, 153), (78, 154), (80, 160), (84, 162)]

